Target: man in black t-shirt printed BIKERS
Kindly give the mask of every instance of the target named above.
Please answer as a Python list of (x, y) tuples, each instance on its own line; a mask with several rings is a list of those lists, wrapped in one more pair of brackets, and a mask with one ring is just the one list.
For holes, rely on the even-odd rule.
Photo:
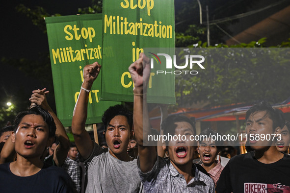
[(273, 137), (284, 122), (265, 101), (247, 111), (246, 133), (253, 151), (229, 161), (217, 182), (217, 193), (290, 193), (290, 156), (275, 146), (281, 136)]

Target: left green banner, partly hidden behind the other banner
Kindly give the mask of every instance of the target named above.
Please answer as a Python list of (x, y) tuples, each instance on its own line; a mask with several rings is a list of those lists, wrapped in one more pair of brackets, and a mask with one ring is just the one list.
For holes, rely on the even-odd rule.
[[(71, 126), (74, 107), (83, 81), (83, 68), (102, 60), (102, 14), (45, 18), (50, 49), (57, 117)], [(100, 101), (101, 74), (95, 80), (88, 102), (86, 124), (101, 122), (114, 101)]]

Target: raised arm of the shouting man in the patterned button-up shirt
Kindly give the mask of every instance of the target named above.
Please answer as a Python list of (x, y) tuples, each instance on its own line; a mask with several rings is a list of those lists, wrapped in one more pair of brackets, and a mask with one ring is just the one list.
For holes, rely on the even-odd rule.
[(146, 102), (147, 85), (150, 75), (149, 59), (140, 53), (139, 59), (131, 64), (129, 71), (134, 82), (134, 134), (138, 144), (140, 169), (142, 172), (151, 171), (156, 160), (156, 146), (144, 146), (143, 134), (151, 134)]

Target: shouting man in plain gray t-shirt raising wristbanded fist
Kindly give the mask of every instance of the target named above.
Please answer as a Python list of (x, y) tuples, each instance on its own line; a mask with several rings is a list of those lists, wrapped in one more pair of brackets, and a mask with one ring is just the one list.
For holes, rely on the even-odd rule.
[(86, 193), (136, 193), (142, 191), (136, 160), (127, 154), (132, 138), (132, 113), (123, 105), (109, 107), (102, 118), (108, 150), (91, 141), (85, 130), (88, 97), (101, 66), (98, 62), (83, 69), (84, 81), (75, 106), (72, 133), (85, 164)]

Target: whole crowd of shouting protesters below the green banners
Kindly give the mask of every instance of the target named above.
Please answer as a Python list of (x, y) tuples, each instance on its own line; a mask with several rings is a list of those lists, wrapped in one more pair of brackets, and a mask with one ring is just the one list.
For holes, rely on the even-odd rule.
[[(124, 105), (103, 115), (104, 139), (97, 144), (85, 129), (90, 89), (101, 65), (83, 69), (73, 112), (70, 142), (46, 100), (46, 89), (32, 92), (31, 105), (14, 125), (0, 129), (0, 192), (5, 193), (290, 193), (290, 123), (282, 111), (262, 101), (246, 112), (247, 153), (223, 153), (216, 132), (183, 115), (161, 109), (160, 132), (151, 128), (147, 106), (148, 58), (140, 54), (129, 71), (134, 83), (133, 112)], [(144, 135), (183, 135), (185, 140), (150, 144)], [(207, 136), (199, 141), (189, 136)], [(278, 135), (279, 134), (279, 135)], [(188, 137), (188, 138), (187, 138)], [(230, 148), (230, 147), (227, 147)]]

